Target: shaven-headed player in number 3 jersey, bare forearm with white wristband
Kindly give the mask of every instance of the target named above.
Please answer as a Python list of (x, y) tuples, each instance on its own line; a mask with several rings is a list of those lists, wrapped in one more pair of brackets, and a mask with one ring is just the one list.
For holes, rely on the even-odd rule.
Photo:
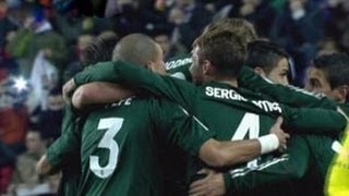
[[(149, 52), (144, 52), (144, 56), (141, 57), (136, 50), (140, 48), (136, 46), (141, 46), (142, 49), (147, 48)], [(155, 45), (153, 40), (143, 35), (130, 35), (123, 38), (116, 48), (115, 59), (133, 60), (139, 64), (146, 64), (149, 69), (163, 65), (161, 52), (158, 45)], [(149, 105), (149, 108), (147, 108), (145, 103)], [(130, 120), (127, 121), (128, 119)], [(196, 121), (193, 121), (193, 123), (201, 127)], [(142, 124), (141, 127), (140, 124)], [(233, 164), (234, 162), (245, 161), (250, 159), (251, 156), (255, 157), (255, 155), (253, 156), (253, 152), (249, 150), (250, 148), (256, 150), (257, 154), (261, 151), (261, 149), (258, 149), (260, 143), (256, 140), (250, 140), (245, 144), (239, 142), (233, 143), (234, 145), (230, 144), (229, 146), (231, 147), (227, 148), (227, 150), (230, 150), (228, 159), (217, 163), (216, 161), (221, 159), (220, 157), (217, 159), (217, 156), (221, 156), (221, 152), (213, 148), (216, 146), (214, 140), (207, 140), (207, 136), (210, 135), (207, 135), (207, 132), (203, 130), (189, 132), (190, 125), (192, 125), (192, 123), (185, 113), (183, 113), (182, 109), (173, 107), (166, 101), (153, 99), (139, 100), (139, 98), (130, 98), (92, 112), (83, 125), (81, 136), (83, 172), (80, 193), (93, 195), (109, 194), (115, 191), (112, 193), (117, 195), (140, 195), (141, 193), (143, 195), (147, 193), (149, 195), (157, 195), (160, 193), (160, 191), (156, 189), (158, 182), (155, 179), (159, 177), (159, 174), (157, 174), (155, 170), (156, 166), (158, 166), (156, 157), (158, 149), (160, 149), (159, 146), (156, 145), (158, 143), (167, 144), (170, 142), (170, 144), (178, 144), (192, 155), (197, 155), (200, 148), (200, 157), (205, 160), (206, 163), (213, 166)], [(110, 128), (110, 126), (112, 127)], [(93, 131), (94, 128), (100, 131)], [(104, 133), (103, 130), (105, 128), (107, 128), (107, 131)], [(153, 128), (157, 131), (154, 131), (155, 133), (152, 134), (151, 131)], [(168, 130), (168, 132), (163, 133), (160, 130)], [(164, 140), (157, 142), (157, 137), (154, 136), (154, 134)], [(63, 136), (67, 135), (68, 134), (64, 134)], [(135, 139), (133, 142), (134, 144), (129, 144), (129, 139)], [(73, 139), (74, 143), (67, 145), (77, 148), (76, 144), (79, 142)], [(153, 142), (155, 143), (154, 145)], [(120, 145), (120, 147), (118, 145)], [(220, 144), (219, 146), (226, 145)], [(263, 147), (262, 145), (262, 151), (264, 152), (265, 149), (263, 149)], [(108, 149), (110, 154), (100, 148)], [(119, 170), (117, 170), (118, 156), (115, 156), (118, 151), (120, 159), (124, 161), (118, 164), (120, 166)], [(135, 156), (137, 151), (142, 151), (142, 154)], [(225, 151), (222, 152), (226, 154)], [(55, 152), (52, 154), (55, 155)], [(244, 157), (242, 155), (244, 155)], [(222, 155), (222, 157), (227, 158), (226, 155)], [(152, 158), (154, 158), (154, 160)], [(136, 172), (135, 169), (139, 169), (139, 171)], [(144, 172), (148, 172), (148, 174)], [(135, 175), (143, 177), (137, 179)], [(127, 179), (129, 179), (130, 182), (127, 182)], [(144, 183), (142, 187), (133, 187), (142, 183)]]

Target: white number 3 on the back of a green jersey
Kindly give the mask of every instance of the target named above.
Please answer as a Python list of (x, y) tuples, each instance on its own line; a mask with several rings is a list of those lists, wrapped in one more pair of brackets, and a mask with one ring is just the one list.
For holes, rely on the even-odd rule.
[(115, 136), (121, 130), (122, 123), (123, 119), (121, 118), (106, 118), (99, 120), (97, 130), (107, 131), (100, 139), (98, 148), (109, 150), (108, 163), (101, 167), (99, 164), (98, 156), (89, 156), (89, 169), (101, 179), (110, 176), (117, 168), (119, 146), (115, 140)]

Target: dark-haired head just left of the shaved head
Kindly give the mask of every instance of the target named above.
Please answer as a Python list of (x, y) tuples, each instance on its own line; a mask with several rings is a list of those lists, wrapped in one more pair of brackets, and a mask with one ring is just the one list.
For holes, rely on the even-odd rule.
[(119, 37), (112, 32), (105, 32), (97, 36), (95, 40), (83, 50), (83, 65), (96, 64), (97, 62), (110, 61), (112, 50)]

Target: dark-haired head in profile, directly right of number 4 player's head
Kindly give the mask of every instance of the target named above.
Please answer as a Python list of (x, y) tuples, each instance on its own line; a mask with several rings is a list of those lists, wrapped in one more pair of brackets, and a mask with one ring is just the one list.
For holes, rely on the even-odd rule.
[(278, 45), (256, 40), (248, 46), (246, 65), (270, 81), (288, 85), (289, 54)]

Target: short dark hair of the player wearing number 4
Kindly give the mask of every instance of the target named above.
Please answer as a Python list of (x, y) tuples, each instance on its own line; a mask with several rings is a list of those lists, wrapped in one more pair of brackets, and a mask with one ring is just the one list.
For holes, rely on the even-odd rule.
[(198, 37), (194, 46), (200, 48), (198, 62), (209, 60), (217, 72), (226, 76), (237, 76), (244, 63), (246, 48), (244, 41), (230, 30), (206, 33)]

